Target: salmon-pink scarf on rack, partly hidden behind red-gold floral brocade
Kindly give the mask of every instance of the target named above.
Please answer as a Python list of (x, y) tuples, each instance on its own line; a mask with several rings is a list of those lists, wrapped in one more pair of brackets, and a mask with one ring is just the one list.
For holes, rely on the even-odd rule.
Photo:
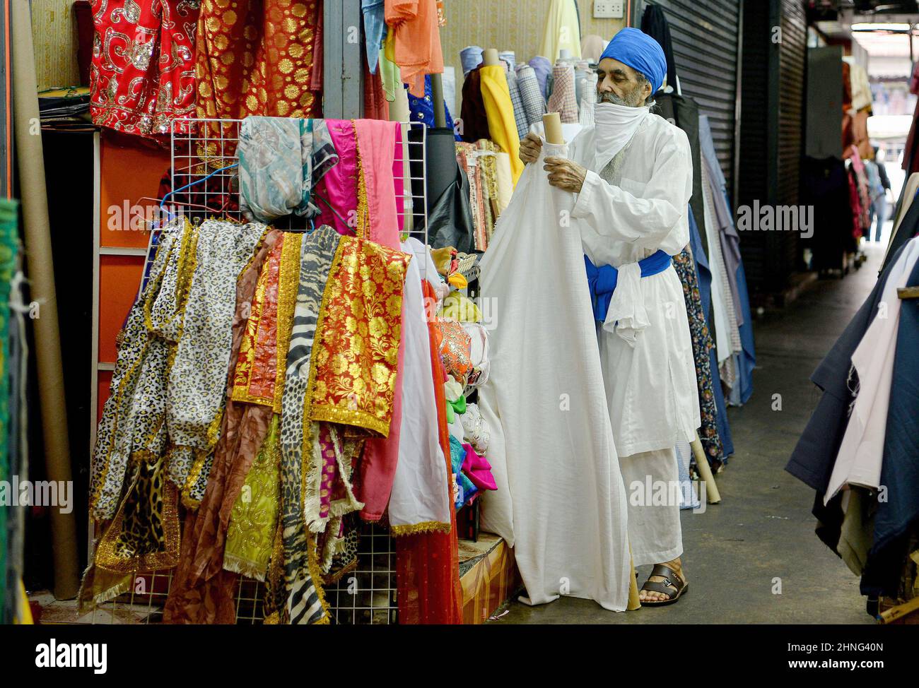
[[(392, 157), (400, 130), (398, 122), (357, 119), (357, 147), (360, 168), (367, 187), (369, 236), (372, 242), (401, 250), (399, 220), (396, 217)], [(403, 303), (403, 320), (405, 305)], [(387, 437), (374, 437), (364, 445), (364, 456), (357, 467), (356, 497), (364, 502), (360, 512), (366, 521), (379, 521), (390, 502), (392, 480), (399, 460), (399, 434), (402, 427), (402, 381), (404, 341), (399, 342), (399, 364), (392, 399), (392, 418)]]

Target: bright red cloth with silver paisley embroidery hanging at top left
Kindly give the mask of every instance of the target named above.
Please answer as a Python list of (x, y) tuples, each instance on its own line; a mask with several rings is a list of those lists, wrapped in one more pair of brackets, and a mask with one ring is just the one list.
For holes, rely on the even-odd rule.
[(191, 131), (198, 16), (187, 0), (93, 3), (93, 124), (146, 137)]

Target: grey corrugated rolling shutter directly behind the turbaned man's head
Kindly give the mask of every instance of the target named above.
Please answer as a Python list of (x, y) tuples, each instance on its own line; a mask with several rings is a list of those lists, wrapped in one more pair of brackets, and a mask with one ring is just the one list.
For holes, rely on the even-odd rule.
[[(635, 3), (635, 26), (648, 3)], [(708, 115), (721, 169), (733, 189), (740, 0), (655, 0), (664, 10), (674, 44), (676, 75), (684, 96)]]

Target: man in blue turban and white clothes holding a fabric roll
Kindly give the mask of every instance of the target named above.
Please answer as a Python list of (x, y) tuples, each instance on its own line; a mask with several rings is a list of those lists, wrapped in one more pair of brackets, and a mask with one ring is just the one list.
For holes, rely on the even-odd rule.
[[(686, 134), (651, 112), (666, 71), (654, 39), (621, 29), (597, 65), (595, 124), (566, 157), (543, 158), (550, 185), (572, 193), (572, 221), (559, 231), (578, 231), (584, 248), (632, 556), (635, 566), (654, 565), (642, 605), (686, 591), (675, 446), (700, 424), (683, 285), (671, 264), (689, 242), (692, 158)], [(521, 160), (537, 162), (541, 143), (528, 134)]]

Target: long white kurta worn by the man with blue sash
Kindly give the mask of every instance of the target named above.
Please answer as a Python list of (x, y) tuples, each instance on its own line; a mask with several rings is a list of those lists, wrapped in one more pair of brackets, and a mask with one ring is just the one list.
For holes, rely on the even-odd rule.
[(619, 269), (613, 301), (625, 303), (616, 312), (629, 311), (630, 322), (644, 325), (614, 331), (611, 304), (598, 328), (616, 449), (628, 457), (691, 441), (700, 424), (683, 285), (672, 265), (647, 277), (634, 265), (658, 249), (679, 254), (689, 242), (692, 158), (683, 130), (648, 115), (623, 153), (619, 186), (611, 186), (597, 174), (595, 135), (585, 127), (570, 144), (570, 157), (589, 170), (572, 217), (584, 254)]

